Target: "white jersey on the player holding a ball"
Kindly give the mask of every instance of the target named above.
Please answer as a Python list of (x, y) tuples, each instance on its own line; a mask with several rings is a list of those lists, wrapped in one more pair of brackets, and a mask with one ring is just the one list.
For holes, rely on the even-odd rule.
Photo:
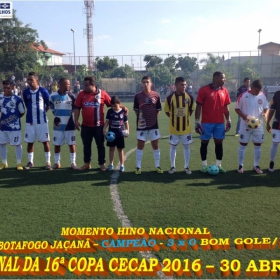
[[(253, 95), (246, 91), (238, 97), (235, 105), (235, 109), (240, 109), (243, 114), (249, 117), (256, 117), (259, 120), (262, 120), (264, 110), (268, 108), (268, 102), (263, 92)], [(241, 118), (240, 129), (246, 128), (247, 122)], [(258, 129), (263, 129), (263, 126), (261, 125)]]

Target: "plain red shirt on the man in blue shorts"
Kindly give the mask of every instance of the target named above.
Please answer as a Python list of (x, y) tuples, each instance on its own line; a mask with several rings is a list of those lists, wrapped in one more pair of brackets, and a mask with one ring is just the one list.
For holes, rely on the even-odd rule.
[(224, 123), (224, 107), (230, 104), (225, 87), (214, 88), (212, 84), (202, 87), (197, 94), (196, 103), (202, 105), (202, 123)]

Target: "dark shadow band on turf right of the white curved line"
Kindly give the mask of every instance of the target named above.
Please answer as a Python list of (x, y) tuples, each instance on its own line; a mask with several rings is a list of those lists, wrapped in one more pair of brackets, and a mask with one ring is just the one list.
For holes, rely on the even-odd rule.
[(194, 170), (191, 175), (187, 175), (184, 171), (174, 174), (169, 174), (167, 171), (163, 174), (142, 171), (141, 175), (135, 175), (134, 172), (125, 172), (121, 174), (118, 179), (118, 184), (122, 182), (132, 182), (135, 183), (133, 186), (139, 186), (140, 182), (151, 182), (171, 185), (176, 181), (183, 180), (186, 187), (215, 187), (219, 190), (234, 190), (251, 187), (276, 188), (280, 187), (279, 176), (280, 170), (276, 170), (274, 173), (264, 171), (264, 174), (256, 174), (251, 170), (239, 174), (237, 171), (232, 170), (225, 174), (218, 174), (217, 176), (211, 176), (208, 173), (204, 174), (199, 170)]

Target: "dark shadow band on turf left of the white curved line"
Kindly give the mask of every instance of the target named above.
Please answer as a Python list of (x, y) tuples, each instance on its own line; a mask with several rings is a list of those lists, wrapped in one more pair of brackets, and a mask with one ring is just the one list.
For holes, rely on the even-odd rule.
[(111, 173), (101, 172), (99, 168), (87, 171), (72, 170), (71, 168), (49, 171), (44, 167), (17, 171), (15, 168), (7, 168), (1, 171), (0, 188), (50, 186), (85, 181), (91, 183), (92, 186), (109, 186)]

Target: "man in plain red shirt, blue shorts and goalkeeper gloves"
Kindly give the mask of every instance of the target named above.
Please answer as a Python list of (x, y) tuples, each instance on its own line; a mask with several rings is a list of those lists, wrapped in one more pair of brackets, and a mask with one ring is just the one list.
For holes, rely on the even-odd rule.
[[(196, 99), (195, 110), (195, 131), (200, 134), (201, 146), (200, 155), (202, 160), (201, 172), (207, 172), (207, 146), (209, 140), (214, 138), (216, 165), (220, 173), (226, 170), (221, 166), (223, 158), (223, 140), (225, 132), (231, 128), (229, 116), (230, 97), (228, 90), (224, 87), (226, 81), (225, 74), (215, 72), (211, 84), (199, 89)], [(200, 115), (202, 119), (200, 123)], [(226, 127), (225, 120), (226, 119)]]

